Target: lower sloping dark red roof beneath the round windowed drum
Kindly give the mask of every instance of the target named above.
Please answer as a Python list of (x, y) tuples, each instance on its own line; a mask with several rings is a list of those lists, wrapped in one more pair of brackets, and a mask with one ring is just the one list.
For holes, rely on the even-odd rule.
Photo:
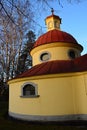
[(38, 64), (16, 78), (87, 71), (87, 54), (74, 60), (55, 60)]

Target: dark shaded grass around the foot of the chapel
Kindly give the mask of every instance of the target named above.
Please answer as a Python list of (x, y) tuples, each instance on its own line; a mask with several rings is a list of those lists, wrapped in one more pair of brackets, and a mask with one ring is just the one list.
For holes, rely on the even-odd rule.
[(8, 102), (0, 101), (0, 130), (87, 130), (83, 127), (60, 125), (58, 123), (33, 123), (8, 118)]

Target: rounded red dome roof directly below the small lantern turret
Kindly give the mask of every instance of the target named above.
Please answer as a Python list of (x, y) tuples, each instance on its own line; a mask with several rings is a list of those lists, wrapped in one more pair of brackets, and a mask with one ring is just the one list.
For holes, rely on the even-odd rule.
[(35, 42), (34, 47), (53, 42), (75, 43), (78, 42), (69, 33), (54, 29), (41, 35)]

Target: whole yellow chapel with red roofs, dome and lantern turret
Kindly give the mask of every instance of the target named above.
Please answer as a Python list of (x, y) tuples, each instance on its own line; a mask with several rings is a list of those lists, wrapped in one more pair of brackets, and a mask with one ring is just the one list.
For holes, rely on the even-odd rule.
[(87, 54), (61, 18), (47, 16), (47, 32), (30, 52), (32, 68), (9, 84), (9, 116), (26, 121), (87, 120)]

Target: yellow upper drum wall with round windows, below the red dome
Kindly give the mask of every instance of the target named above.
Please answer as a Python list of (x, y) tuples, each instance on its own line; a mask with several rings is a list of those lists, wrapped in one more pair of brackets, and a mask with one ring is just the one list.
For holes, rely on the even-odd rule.
[(44, 52), (50, 53), (49, 61), (53, 60), (71, 60), (69, 57), (69, 51), (74, 50), (76, 57), (80, 56), (81, 50), (78, 45), (71, 43), (51, 43), (42, 46), (38, 46), (31, 51), (33, 59), (33, 66), (42, 63), (40, 55)]

